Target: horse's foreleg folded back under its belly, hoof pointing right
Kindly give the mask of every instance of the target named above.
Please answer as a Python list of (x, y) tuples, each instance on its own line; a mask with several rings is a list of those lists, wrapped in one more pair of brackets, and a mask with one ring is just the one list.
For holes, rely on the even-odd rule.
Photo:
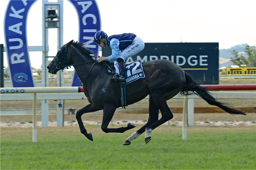
[(128, 123), (126, 127), (108, 128), (108, 125), (114, 116), (115, 110), (116, 110), (116, 107), (114, 107), (114, 106), (104, 105), (103, 118), (102, 118), (102, 124), (101, 124), (101, 129), (103, 132), (105, 132), (105, 133), (124, 133), (125, 131), (136, 127), (134, 124)]

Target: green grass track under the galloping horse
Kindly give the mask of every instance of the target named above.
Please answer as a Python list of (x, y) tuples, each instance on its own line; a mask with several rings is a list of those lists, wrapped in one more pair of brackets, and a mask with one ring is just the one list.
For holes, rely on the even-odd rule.
[[(110, 126), (113, 128), (113, 126)], [(117, 126), (114, 126), (117, 128)], [(78, 127), (1, 128), (0, 169), (256, 169), (256, 130), (251, 127), (182, 128), (160, 126), (145, 144), (144, 133), (130, 146), (123, 134), (87, 126), (94, 141)]]

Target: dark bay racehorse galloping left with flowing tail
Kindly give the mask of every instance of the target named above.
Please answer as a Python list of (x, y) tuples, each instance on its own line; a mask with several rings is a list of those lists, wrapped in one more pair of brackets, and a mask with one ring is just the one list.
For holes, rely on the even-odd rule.
[[(54, 60), (47, 66), (49, 73), (56, 74), (60, 69), (63, 70), (65, 67), (73, 65), (83, 83), (84, 94), (90, 104), (76, 113), (81, 133), (93, 141), (93, 135), (87, 133), (81, 116), (85, 113), (102, 109), (101, 129), (103, 132), (123, 133), (134, 128), (135, 125), (132, 123), (128, 123), (126, 127), (122, 128), (108, 128), (116, 108), (121, 106), (119, 83), (110, 81), (113, 75), (105, 71), (106, 66), (102, 62), (95, 62), (92, 58), (94, 53), (83, 46), (83, 43), (70, 41), (58, 50)], [(123, 145), (130, 145), (131, 140), (136, 139), (143, 132), (145, 132), (145, 142), (148, 143), (151, 140), (150, 133), (152, 130), (173, 118), (166, 101), (179, 92), (182, 95), (195, 93), (210, 105), (221, 107), (227, 113), (246, 115), (241, 111), (227, 107), (224, 103), (216, 101), (207, 88), (202, 88), (181, 67), (169, 60), (149, 61), (142, 63), (142, 65), (145, 78), (127, 84), (128, 105), (138, 102), (149, 95), (149, 117), (147, 123), (128, 137)], [(187, 91), (190, 91), (190, 93), (187, 93)], [(158, 120), (159, 109), (162, 117)]]

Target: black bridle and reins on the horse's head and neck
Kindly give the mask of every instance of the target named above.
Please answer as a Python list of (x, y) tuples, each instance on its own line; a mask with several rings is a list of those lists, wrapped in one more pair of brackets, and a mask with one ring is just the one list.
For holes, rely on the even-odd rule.
[[(56, 68), (57, 68), (58, 70), (61, 70), (62, 72), (63, 72), (63, 70), (64, 70), (65, 67), (67, 67), (67, 69), (68, 69), (68, 67), (70, 67), (70, 66), (81, 65), (81, 64), (88, 64), (88, 63), (93, 63), (93, 62), (94, 62), (94, 64), (93, 64), (93, 66), (94, 66), (95, 63), (97, 62), (97, 61), (95, 60), (95, 61), (90, 61), (90, 62), (84, 62), (84, 63), (77, 63), (77, 64), (70, 64), (70, 65), (68, 65), (67, 57), (66, 57), (67, 53), (68, 53), (70, 56), (73, 56), (73, 55), (74, 55), (74, 54), (71, 55), (71, 54), (68, 52), (68, 48), (69, 48), (69, 46), (68, 46), (68, 47), (65, 47), (65, 45), (63, 45), (63, 46), (58, 50), (58, 52), (57, 52), (57, 54), (56, 54), (56, 56), (55, 56), (58, 60), (56, 60), (55, 57), (53, 58), (54, 62), (57, 64), (57, 65), (56, 65)], [(64, 50), (65, 50), (65, 51), (64, 51)], [(64, 53), (63, 53), (63, 51), (64, 51)], [(62, 63), (64, 66), (60, 66), (61, 63)], [(93, 69), (93, 66), (91, 66), (91, 69)], [(88, 75), (87, 75), (86, 80), (87, 80), (88, 77), (89, 77), (89, 74), (90, 74), (90, 72), (91, 72), (91, 69), (90, 69), (90, 71), (89, 71), (89, 73), (88, 73)], [(85, 80), (85, 82), (86, 82), (86, 80)], [(82, 83), (82, 85), (84, 85), (85, 82)]]

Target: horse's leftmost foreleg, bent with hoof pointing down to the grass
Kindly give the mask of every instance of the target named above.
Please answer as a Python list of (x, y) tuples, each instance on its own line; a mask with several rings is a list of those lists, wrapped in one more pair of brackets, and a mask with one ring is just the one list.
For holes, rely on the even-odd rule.
[(94, 106), (93, 104), (88, 104), (87, 106), (85, 106), (85, 107), (81, 108), (79, 111), (77, 111), (76, 115), (75, 115), (81, 133), (84, 134), (91, 141), (93, 141), (93, 135), (91, 133), (87, 133), (81, 116), (85, 113), (96, 112), (99, 110), (100, 109), (98, 107)]

